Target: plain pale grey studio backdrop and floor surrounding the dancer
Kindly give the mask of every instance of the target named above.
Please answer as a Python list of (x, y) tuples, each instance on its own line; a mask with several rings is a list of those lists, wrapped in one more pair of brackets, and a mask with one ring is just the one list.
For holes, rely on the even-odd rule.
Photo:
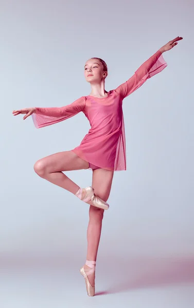
[[(1, 296), (7, 307), (193, 307), (193, 3), (1, 1)], [(64, 106), (90, 93), (84, 64), (108, 64), (107, 91), (153, 53), (160, 74), (124, 100), (127, 171), (115, 172), (86, 295), (89, 206), (40, 177), (34, 163), (77, 146), (83, 113), (36, 129), (25, 107)], [(81, 187), (92, 171), (67, 175)]]

